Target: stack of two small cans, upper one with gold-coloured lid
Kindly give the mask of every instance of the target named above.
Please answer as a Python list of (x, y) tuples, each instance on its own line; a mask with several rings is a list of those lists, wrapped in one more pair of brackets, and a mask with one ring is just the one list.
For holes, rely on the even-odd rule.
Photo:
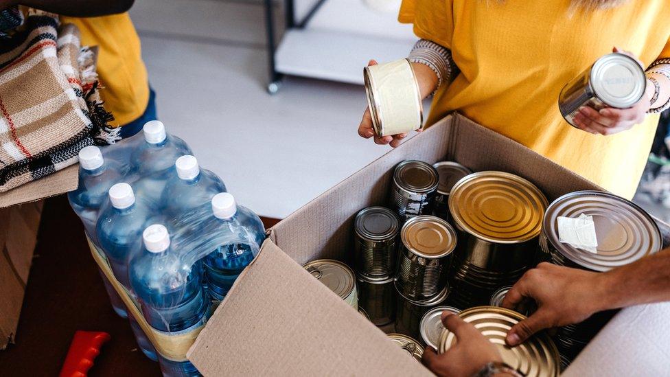
[(417, 338), (421, 318), (449, 295), (447, 272), (457, 236), (445, 220), (423, 215), (405, 222), (400, 239), (395, 330)]

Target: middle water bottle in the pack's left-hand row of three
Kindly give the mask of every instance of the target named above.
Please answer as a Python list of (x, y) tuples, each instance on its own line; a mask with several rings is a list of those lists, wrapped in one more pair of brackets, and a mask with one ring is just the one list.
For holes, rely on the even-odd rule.
[[(128, 259), (133, 249), (141, 243), (141, 234), (149, 216), (148, 208), (136, 203), (135, 194), (128, 183), (117, 183), (109, 189), (110, 205), (100, 214), (97, 234), (116, 279), (130, 290)], [(130, 316), (130, 326), (137, 345), (144, 354), (157, 361), (156, 350), (148, 341), (135, 319)]]

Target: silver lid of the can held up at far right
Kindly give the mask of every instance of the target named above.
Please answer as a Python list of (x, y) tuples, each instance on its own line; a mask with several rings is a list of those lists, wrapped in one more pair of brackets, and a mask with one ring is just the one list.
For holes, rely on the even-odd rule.
[(590, 83), (593, 93), (608, 106), (628, 108), (644, 95), (647, 77), (634, 58), (614, 52), (593, 63)]

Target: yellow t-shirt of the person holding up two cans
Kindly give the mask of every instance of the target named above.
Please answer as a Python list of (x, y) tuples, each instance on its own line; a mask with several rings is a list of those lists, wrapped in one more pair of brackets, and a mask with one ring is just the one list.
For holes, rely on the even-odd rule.
[(592, 12), (571, 10), (570, 0), (404, 0), (399, 19), (413, 23), (419, 38), (451, 49), (461, 69), (437, 91), (428, 124), (459, 111), (632, 198), (658, 117), (616, 135), (591, 135), (563, 119), (557, 100), (566, 82), (614, 46), (645, 65), (670, 56), (667, 0)]

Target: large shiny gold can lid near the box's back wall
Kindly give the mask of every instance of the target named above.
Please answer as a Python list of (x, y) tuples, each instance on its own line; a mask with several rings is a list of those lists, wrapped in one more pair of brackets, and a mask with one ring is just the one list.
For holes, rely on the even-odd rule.
[(481, 240), (518, 243), (540, 234), (548, 202), (538, 187), (506, 172), (476, 172), (449, 195), (449, 211), (459, 229)]

